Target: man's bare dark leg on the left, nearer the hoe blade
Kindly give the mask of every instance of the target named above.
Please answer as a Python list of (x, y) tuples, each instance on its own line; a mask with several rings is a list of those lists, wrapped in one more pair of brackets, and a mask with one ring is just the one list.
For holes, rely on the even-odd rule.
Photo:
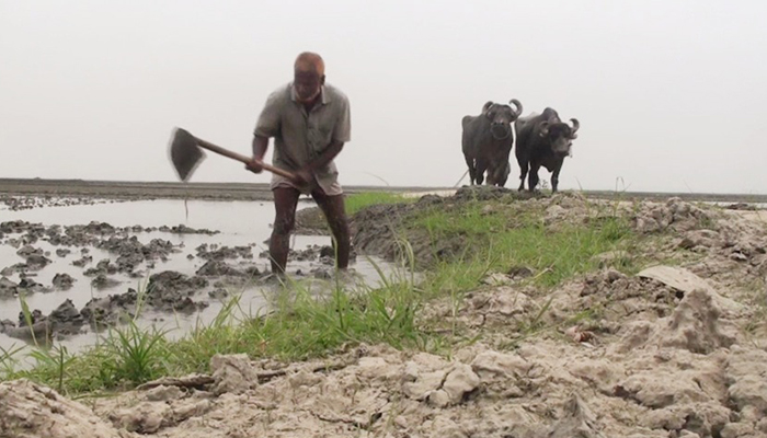
[(296, 206), (300, 193), (293, 187), (277, 187), (273, 193), (275, 218), (268, 251), (272, 273), (285, 274), (290, 250), (290, 232), (296, 223)]

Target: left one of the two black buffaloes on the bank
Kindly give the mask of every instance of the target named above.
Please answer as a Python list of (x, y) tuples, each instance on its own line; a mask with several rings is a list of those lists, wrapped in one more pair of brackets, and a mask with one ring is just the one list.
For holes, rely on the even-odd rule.
[(515, 108), (490, 101), (480, 115), (461, 119), (461, 146), (471, 185), (482, 185), (485, 171), (489, 185), (503, 187), (506, 184), (508, 155), (514, 142), (512, 124), (522, 114), (519, 101), (512, 99), (508, 103)]

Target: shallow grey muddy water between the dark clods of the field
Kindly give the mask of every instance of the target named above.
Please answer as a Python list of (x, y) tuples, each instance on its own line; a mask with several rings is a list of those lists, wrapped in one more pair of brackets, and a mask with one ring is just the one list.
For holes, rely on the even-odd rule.
[[(307, 208), (313, 206), (311, 201), (300, 201), (298, 208)], [(64, 246), (51, 245), (47, 241), (38, 240), (32, 246), (41, 249), (45, 252), (45, 256), (51, 263), (44, 268), (35, 272), (27, 272), (27, 277), (34, 281), (50, 288), (47, 292), (35, 292), (26, 296), (26, 302), (31, 310), (38, 309), (43, 314), (49, 314), (50, 311), (59, 307), (65, 300), (70, 299), (77, 310), (82, 309), (92, 298), (106, 297), (110, 295), (119, 295), (128, 290), (128, 288), (139, 289), (146, 286), (151, 274), (157, 274), (163, 270), (175, 270), (188, 276), (195, 275), (206, 262), (198, 257), (196, 249), (202, 244), (221, 246), (251, 246), (252, 257), (237, 257), (236, 260), (227, 260), (226, 262), (237, 267), (238, 269), (256, 267), (259, 270), (268, 270), (268, 260), (260, 257), (262, 252), (267, 250), (267, 244), (264, 243), (271, 234), (271, 223), (274, 216), (274, 206), (268, 201), (207, 201), (207, 200), (188, 200), (184, 204), (183, 200), (137, 200), (123, 203), (104, 203), (94, 205), (73, 205), (73, 206), (47, 206), (26, 210), (12, 211), (0, 207), (0, 222), (11, 220), (23, 220), (32, 223), (41, 223), (48, 228), (55, 224), (66, 226), (85, 226), (92, 221), (106, 222), (115, 228), (141, 226), (144, 228), (160, 228), (163, 226), (186, 226), (193, 229), (207, 229), (218, 231), (216, 234), (179, 234), (162, 231), (139, 231), (130, 232), (128, 235), (135, 235), (142, 244), (148, 244), (152, 239), (162, 239), (170, 241), (173, 245), (178, 245), (178, 252), (171, 253), (167, 261), (156, 261), (153, 266), (146, 263), (136, 267), (135, 272), (140, 273), (140, 276), (129, 276), (128, 274), (115, 273), (108, 275), (108, 278), (117, 281), (114, 286), (106, 288), (96, 288), (91, 286), (92, 276), (84, 275), (88, 268), (95, 267), (96, 264), (108, 258), (112, 263), (115, 262), (117, 255), (100, 250), (92, 245), (87, 247), (85, 255), (92, 257), (92, 261), (82, 267), (72, 265), (72, 262), (81, 258), (82, 247), (80, 246)], [(0, 241), (0, 269), (23, 263), (24, 258), (16, 254), (19, 247), (9, 244), (9, 241), (14, 238), (20, 238), (22, 234), (5, 234)], [(108, 235), (102, 239), (108, 239)], [(291, 239), (293, 250), (305, 250), (308, 245), (329, 245), (331, 239), (329, 237), (308, 237), (296, 235)], [(57, 255), (56, 250), (68, 249), (71, 253), (66, 256)], [(393, 266), (388, 265), (380, 258), (357, 256), (352, 262), (351, 267), (356, 272), (366, 284), (377, 285), (380, 279), (373, 263), (384, 268), (385, 273), (391, 273)], [(310, 261), (290, 261), (288, 270), (293, 278), (301, 280), (310, 280), (312, 291), (321, 292), (327, 290), (328, 283), (314, 279), (311, 272), (317, 268), (328, 269), (328, 266), (322, 266), (318, 260)], [(298, 272), (301, 272), (300, 274)], [(11, 281), (19, 283), (20, 274), (5, 273), (5, 278)], [(75, 278), (73, 286), (68, 290), (58, 290), (53, 288), (53, 278), (56, 274), (68, 274)], [(197, 323), (207, 323), (211, 321), (224, 306), (222, 301), (213, 298), (208, 295), (209, 291), (216, 289), (213, 284), (216, 278), (209, 280), (209, 286), (199, 290), (194, 297), (195, 301), (206, 302), (207, 307), (191, 313), (179, 312), (160, 312), (147, 308), (142, 311), (139, 325), (154, 325), (160, 330), (171, 330), (169, 337), (180, 337), (185, 334), (191, 327)], [(317, 286), (316, 286), (317, 285)], [(266, 310), (266, 297), (274, 293), (276, 286), (248, 286), (248, 287), (229, 287), (231, 293), (242, 293), (240, 306), (244, 313), (255, 314)], [(10, 320), (19, 321), (21, 303), (18, 298), (0, 299), (0, 321)], [(92, 345), (96, 342), (96, 334), (85, 324), (81, 332), (77, 335), (60, 337), (56, 343), (67, 346), (72, 350), (79, 350), (84, 346)], [(0, 333), (0, 347), (9, 349), (24, 345), (24, 341), (12, 338)]]

